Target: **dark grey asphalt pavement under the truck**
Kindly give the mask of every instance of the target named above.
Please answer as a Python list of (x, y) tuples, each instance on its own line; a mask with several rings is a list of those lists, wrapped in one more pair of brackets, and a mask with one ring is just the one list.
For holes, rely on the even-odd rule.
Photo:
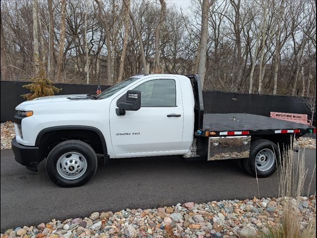
[[(33, 173), (15, 162), (12, 150), (0, 153), (1, 232), (52, 219), (85, 217), (95, 211), (259, 196), (257, 180), (233, 160), (184, 161), (179, 156), (128, 158), (111, 160), (107, 167), (100, 161), (95, 177), (84, 186), (62, 188), (47, 177), (45, 161), (40, 164), (39, 172)], [(316, 150), (306, 149), (305, 158), (311, 178)], [(259, 190), (260, 197), (277, 196), (277, 173), (259, 179)], [(311, 193), (315, 190), (316, 174)]]

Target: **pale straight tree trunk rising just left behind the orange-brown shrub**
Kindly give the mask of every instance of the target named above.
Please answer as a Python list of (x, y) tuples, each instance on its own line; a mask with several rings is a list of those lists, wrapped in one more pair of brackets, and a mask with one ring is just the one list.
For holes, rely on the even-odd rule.
[(34, 74), (39, 72), (39, 32), (38, 32), (38, 1), (32, 0), (32, 20), (33, 20), (33, 63)]

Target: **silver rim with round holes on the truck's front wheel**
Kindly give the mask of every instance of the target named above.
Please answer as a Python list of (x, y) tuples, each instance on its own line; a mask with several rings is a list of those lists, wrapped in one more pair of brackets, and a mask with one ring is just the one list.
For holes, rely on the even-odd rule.
[(57, 160), (56, 170), (64, 179), (79, 179), (87, 170), (86, 158), (78, 152), (67, 152)]

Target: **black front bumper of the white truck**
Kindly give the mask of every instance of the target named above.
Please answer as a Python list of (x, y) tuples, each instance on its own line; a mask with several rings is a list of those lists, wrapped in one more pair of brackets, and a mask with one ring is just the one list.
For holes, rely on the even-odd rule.
[(37, 172), (39, 160), (39, 147), (19, 144), (14, 138), (11, 142), (15, 161), (26, 166), (27, 169)]

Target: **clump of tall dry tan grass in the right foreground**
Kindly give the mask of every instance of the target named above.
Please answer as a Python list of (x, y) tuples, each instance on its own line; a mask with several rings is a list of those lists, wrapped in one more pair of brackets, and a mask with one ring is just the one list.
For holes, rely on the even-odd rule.
[[(290, 148), (293, 146), (291, 145)], [(262, 232), (261, 238), (316, 238), (316, 207), (315, 212), (308, 216), (304, 215), (298, 208), (308, 172), (305, 167), (304, 153), (305, 151), (296, 153), (291, 149), (284, 150), (282, 154), (283, 165), (279, 167), (278, 171), (279, 196), (283, 199), (281, 224), (269, 226), (267, 232)], [(314, 173), (315, 170), (316, 165)]]

